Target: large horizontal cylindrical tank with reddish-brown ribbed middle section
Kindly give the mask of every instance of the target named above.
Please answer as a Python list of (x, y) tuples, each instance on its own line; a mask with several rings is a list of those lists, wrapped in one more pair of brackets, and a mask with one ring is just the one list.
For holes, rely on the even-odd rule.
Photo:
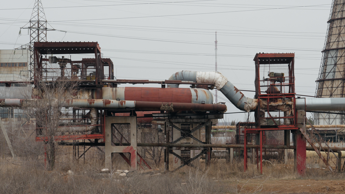
[(200, 88), (104, 87), (102, 97), (109, 100), (213, 104), (212, 93)]

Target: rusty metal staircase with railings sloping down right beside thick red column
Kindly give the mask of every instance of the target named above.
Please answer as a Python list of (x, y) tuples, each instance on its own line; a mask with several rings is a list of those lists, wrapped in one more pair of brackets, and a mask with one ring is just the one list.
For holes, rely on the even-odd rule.
[[(308, 123), (309, 125), (311, 125), (311, 129), (306, 128), (306, 123)], [(310, 123), (310, 121), (308, 120), (308, 118), (306, 116), (304, 116), (304, 122), (303, 122), (303, 128), (299, 128), (300, 132), (303, 134), (303, 136), (307, 139), (307, 141), (309, 142), (309, 144), (313, 147), (313, 149), (315, 150), (315, 152), (317, 153), (317, 155), (319, 155), (319, 157), (322, 159), (322, 161), (326, 164), (327, 168), (333, 172), (333, 168), (332, 166), (334, 165), (335, 168), (337, 168), (337, 164), (339, 161), (339, 158), (335, 155), (335, 153), (332, 151), (331, 147), (328, 146), (328, 144), (326, 143), (326, 141), (322, 138), (322, 136), (317, 133), (317, 130), (315, 129), (315, 127)], [(315, 135), (315, 134), (316, 135)], [(327, 147), (325, 149), (325, 147), (322, 146), (322, 143), (325, 144), (325, 146)], [(318, 144), (319, 147), (316, 146), (316, 144)], [(321, 152), (325, 152), (327, 154), (327, 158), (325, 158)], [(330, 154), (333, 154), (336, 158), (336, 162), (334, 162), (333, 159), (330, 158)], [(332, 163), (330, 162), (332, 161)]]

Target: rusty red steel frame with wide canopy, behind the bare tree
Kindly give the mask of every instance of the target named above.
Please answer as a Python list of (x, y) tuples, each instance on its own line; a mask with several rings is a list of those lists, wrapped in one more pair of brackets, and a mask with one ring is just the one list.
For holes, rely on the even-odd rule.
[[(61, 54), (95, 54), (95, 58), (82, 59), (81, 61), (70, 61), (70, 65), (82, 64), (81, 75), (79, 76), (81, 80), (85, 80), (83, 72), (91, 67), (93, 71), (96, 72), (95, 79), (89, 82), (80, 81), (79, 87), (94, 89), (93, 94), (94, 99), (102, 99), (101, 88), (103, 87), (102, 80), (104, 79), (104, 66), (109, 66), (109, 76), (107, 78), (114, 78), (114, 67), (110, 59), (101, 58), (101, 50), (98, 42), (34, 42), (34, 85), (38, 86), (39, 81), (53, 81), (56, 77), (45, 77), (43, 76), (43, 71), (50, 70), (49, 68), (43, 66), (43, 61), (48, 61), (44, 56), (47, 55), (61, 55)], [(86, 65), (87, 64), (87, 65)], [(67, 140), (78, 140), (78, 139), (103, 139), (104, 140), (104, 115), (103, 110), (100, 110), (99, 115), (99, 134), (78, 134), (78, 135), (60, 135), (56, 136), (57, 141), (67, 141)], [(73, 110), (73, 115), (75, 115), (75, 110)], [(72, 118), (73, 120), (75, 118)], [(37, 127), (39, 130), (40, 127)], [(47, 137), (37, 136), (36, 141), (46, 141)], [(98, 143), (96, 141), (96, 143)]]

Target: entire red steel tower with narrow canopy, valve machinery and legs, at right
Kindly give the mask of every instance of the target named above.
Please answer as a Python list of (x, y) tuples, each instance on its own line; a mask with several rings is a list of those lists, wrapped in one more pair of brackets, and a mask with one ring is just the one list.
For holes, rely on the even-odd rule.
[[(256, 144), (260, 145), (260, 172), (262, 173), (263, 144), (266, 142), (265, 131), (284, 130), (284, 144), (290, 145), (290, 130), (295, 133), (297, 147), (297, 170), (305, 171), (306, 141), (297, 126), (297, 110), (295, 100), (295, 75), (293, 53), (259, 53), (255, 55), (255, 128), (245, 128), (244, 133), (244, 170), (247, 169), (248, 134), (256, 134)], [(258, 148), (257, 148), (258, 149)], [(258, 153), (258, 150), (256, 150)], [(304, 154), (303, 154), (304, 153)], [(257, 154), (257, 161), (259, 160)], [(259, 165), (257, 165), (259, 168)], [(300, 169), (299, 169), (300, 168)]]

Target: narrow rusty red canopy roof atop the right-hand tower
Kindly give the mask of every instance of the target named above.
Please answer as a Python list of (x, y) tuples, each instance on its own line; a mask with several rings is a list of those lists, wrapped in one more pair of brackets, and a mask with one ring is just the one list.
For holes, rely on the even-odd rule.
[(295, 57), (294, 53), (257, 53), (254, 61), (260, 64), (289, 64)]

